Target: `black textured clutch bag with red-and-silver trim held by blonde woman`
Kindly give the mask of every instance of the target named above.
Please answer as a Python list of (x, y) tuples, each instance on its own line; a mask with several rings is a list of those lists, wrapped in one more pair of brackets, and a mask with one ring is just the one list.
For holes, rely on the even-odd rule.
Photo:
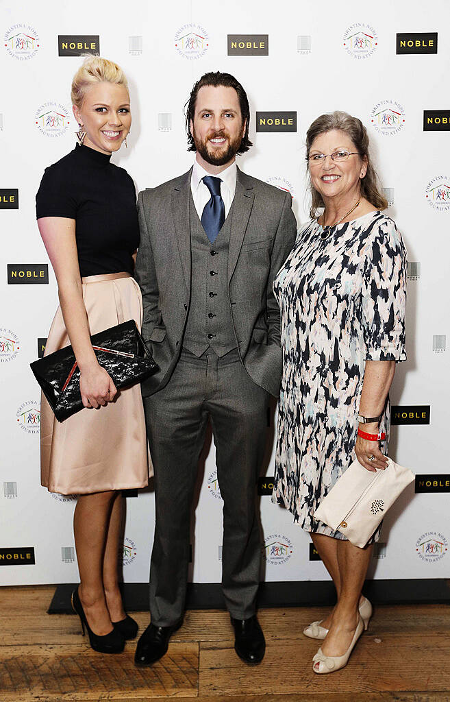
[[(116, 388), (141, 383), (158, 370), (133, 319), (90, 337), (100, 366)], [(71, 346), (65, 346), (30, 364), (34, 377), (58, 421), (83, 409), (80, 370)]]

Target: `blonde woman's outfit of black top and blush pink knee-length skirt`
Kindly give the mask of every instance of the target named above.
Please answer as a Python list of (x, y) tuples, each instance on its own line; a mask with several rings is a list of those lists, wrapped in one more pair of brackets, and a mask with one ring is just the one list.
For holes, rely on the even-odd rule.
[[(142, 324), (142, 296), (132, 277), (139, 245), (135, 186), (110, 156), (76, 146), (46, 168), (36, 214), (75, 220), (83, 302), (95, 334), (134, 319)], [(67, 346), (58, 307), (46, 355)], [(151, 463), (150, 463), (151, 466)], [(63, 422), (41, 396), (41, 484), (50, 492), (88, 494), (144, 487), (149, 455), (140, 385), (118, 392), (100, 409), (82, 409)]]

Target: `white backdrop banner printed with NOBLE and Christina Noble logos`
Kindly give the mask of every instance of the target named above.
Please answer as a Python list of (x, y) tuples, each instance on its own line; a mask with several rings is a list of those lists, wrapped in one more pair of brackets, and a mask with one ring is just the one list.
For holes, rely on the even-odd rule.
[[(1, 4), (0, 583), (78, 578), (76, 498), (39, 484), (39, 388), (29, 363), (43, 352), (57, 306), (34, 196), (43, 169), (74, 147), (70, 84), (83, 53), (115, 60), (128, 76), (131, 134), (128, 150), (113, 160), (137, 190), (191, 166), (183, 107), (193, 82), (210, 70), (235, 74), (250, 99), (254, 146), (238, 157), (240, 168), (290, 192), (299, 224), (308, 217), (308, 126), (333, 110), (367, 126), (409, 260), (408, 360), (397, 364), (391, 391), (390, 455), (418, 474), (385, 519), (369, 575), (450, 576), (449, 20), (447, 0), (427, 7), (402, 0), (388, 9), (353, 0)], [(273, 420), (269, 432), (273, 441)], [(206, 453), (192, 538), (191, 578), (200, 583), (221, 579), (223, 503), (213, 444)], [(327, 579), (308, 534), (271, 502), (271, 446), (265, 470), (258, 488), (262, 576)], [(147, 580), (153, 529), (153, 492), (130, 494), (125, 581)]]

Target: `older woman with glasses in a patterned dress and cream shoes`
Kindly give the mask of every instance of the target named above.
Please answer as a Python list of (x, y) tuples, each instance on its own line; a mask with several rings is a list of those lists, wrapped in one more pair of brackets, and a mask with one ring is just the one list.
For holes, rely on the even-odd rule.
[[(333, 611), (304, 630), (323, 640), (315, 673), (346, 665), (371, 616), (361, 595), (371, 544), (357, 548), (314, 512), (357, 456), (385, 468), (388, 392), (404, 351), (406, 254), (379, 192), (361, 121), (323, 114), (308, 129), (311, 221), (275, 278), (282, 319), (274, 497), (311, 538), (337, 593)], [(318, 218), (317, 210), (323, 207)], [(383, 452), (381, 451), (383, 448)]]

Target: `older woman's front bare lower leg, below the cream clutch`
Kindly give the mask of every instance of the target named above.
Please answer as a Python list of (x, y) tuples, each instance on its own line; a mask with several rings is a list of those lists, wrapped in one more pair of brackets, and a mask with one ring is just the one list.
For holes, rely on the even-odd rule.
[(359, 621), (358, 604), (369, 567), (371, 545), (357, 548), (350, 541), (335, 540), (341, 578), (341, 592), (333, 610), (327, 638), (322, 644), (325, 656), (343, 656), (350, 646)]

